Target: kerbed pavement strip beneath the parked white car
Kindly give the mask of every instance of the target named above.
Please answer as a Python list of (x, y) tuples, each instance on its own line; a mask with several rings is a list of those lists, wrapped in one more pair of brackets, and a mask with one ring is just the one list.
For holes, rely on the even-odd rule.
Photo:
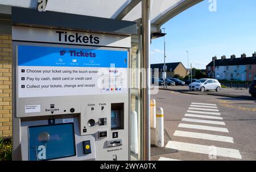
[(170, 90), (177, 91), (184, 94), (195, 94), (195, 95), (217, 95), (222, 97), (233, 97), (233, 98), (241, 98), (241, 99), (249, 99), (254, 100), (249, 94), (248, 89), (227, 89), (222, 88), (220, 92), (216, 91), (190, 91), (188, 86), (168, 86), (167, 89), (159, 88), (160, 90)]

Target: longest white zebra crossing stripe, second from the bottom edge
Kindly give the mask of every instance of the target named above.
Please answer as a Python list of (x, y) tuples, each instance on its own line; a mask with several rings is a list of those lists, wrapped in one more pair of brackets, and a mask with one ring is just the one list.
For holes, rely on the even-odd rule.
[(176, 149), (186, 152), (202, 153), (212, 155), (213, 149), (216, 148), (216, 156), (242, 159), (237, 149), (220, 148), (216, 146), (190, 144), (187, 142), (168, 141), (166, 148)]

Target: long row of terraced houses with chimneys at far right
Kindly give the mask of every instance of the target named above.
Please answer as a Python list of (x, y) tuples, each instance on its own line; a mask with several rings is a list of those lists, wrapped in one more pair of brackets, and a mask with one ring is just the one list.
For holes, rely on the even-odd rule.
[[(214, 68), (213, 68), (214, 66)], [(240, 58), (235, 55), (221, 59), (213, 57), (212, 61), (206, 66), (208, 77), (214, 77), (220, 80), (253, 81), (256, 79), (256, 53), (252, 57), (246, 57), (242, 54)]]

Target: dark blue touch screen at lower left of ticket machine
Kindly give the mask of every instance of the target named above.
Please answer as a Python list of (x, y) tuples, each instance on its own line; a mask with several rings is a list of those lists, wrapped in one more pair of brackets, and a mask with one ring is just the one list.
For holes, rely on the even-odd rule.
[(76, 156), (73, 123), (28, 127), (30, 161)]

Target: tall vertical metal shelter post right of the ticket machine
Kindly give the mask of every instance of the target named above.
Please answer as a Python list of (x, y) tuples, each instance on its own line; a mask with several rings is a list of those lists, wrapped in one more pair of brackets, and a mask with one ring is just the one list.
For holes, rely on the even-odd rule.
[(143, 157), (150, 161), (150, 0), (142, 0)]

